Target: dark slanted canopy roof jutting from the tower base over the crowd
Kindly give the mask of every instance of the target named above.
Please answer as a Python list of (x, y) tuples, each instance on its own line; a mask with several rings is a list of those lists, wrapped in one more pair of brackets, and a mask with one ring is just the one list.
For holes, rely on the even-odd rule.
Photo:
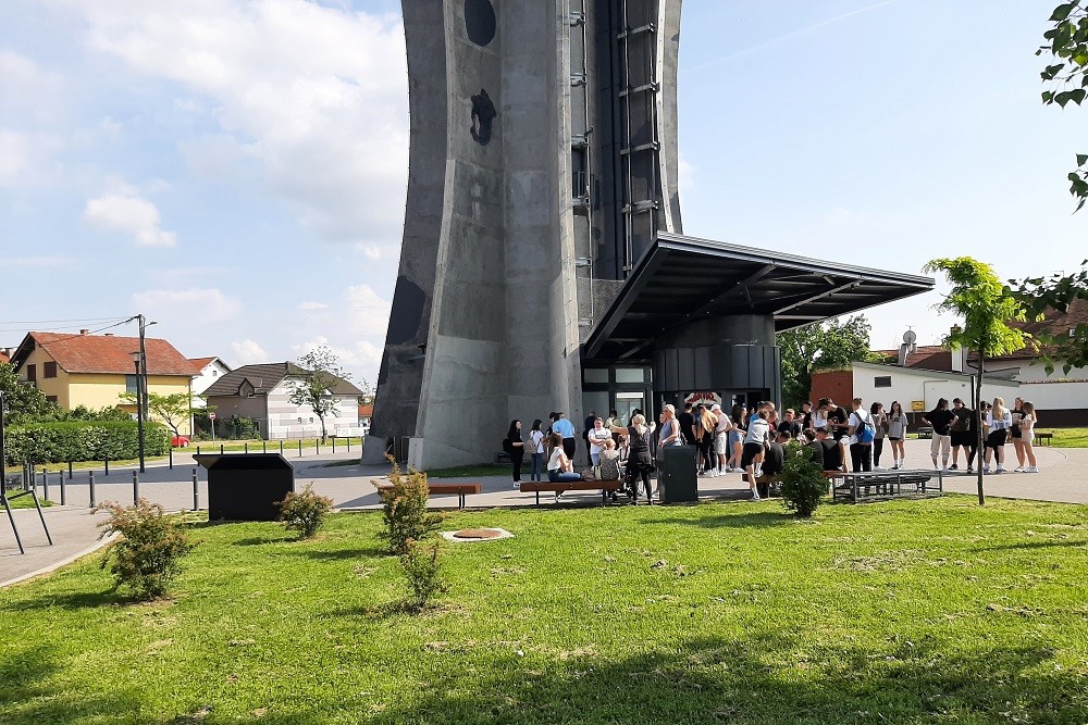
[(646, 363), (659, 335), (703, 317), (770, 315), (780, 333), (932, 288), (929, 277), (662, 233), (586, 339), (583, 357)]

